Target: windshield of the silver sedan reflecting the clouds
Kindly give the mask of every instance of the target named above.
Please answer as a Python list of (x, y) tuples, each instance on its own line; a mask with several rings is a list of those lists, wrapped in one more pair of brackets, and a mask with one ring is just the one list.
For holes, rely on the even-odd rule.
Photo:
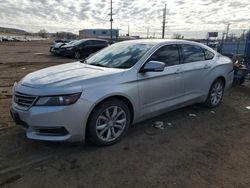
[(116, 43), (89, 57), (84, 63), (110, 68), (130, 68), (152, 47), (153, 44)]

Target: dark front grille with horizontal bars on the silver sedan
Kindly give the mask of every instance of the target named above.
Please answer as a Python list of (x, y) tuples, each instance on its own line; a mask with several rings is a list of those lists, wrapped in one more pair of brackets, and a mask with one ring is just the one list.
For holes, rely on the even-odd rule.
[(25, 109), (30, 108), (36, 101), (36, 98), (37, 96), (27, 95), (27, 94), (19, 93), (19, 92), (16, 92), (14, 95), (15, 103), (18, 106), (23, 107)]

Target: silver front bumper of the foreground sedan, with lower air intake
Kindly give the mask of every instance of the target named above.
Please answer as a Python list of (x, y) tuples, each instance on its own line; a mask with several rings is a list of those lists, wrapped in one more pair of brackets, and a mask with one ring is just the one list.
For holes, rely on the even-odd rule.
[(84, 141), (89, 109), (92, 103), (79, 99), (69, 106), (32, 106), (29, 110), (16, 108), (11, 116), (30, 139), (44, 141)]

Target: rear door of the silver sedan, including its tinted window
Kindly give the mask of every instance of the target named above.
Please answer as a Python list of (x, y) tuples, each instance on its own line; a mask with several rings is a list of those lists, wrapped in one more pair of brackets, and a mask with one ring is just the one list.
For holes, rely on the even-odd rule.
[[(212, 68), (213, 53), (206, 58), (205, 49), (191, 44), (181, 44), (181, 62), (185, 98), (192, 100), (207, 94), (209, 73)], [(209, 52), (207, 52), (209, 53)]]

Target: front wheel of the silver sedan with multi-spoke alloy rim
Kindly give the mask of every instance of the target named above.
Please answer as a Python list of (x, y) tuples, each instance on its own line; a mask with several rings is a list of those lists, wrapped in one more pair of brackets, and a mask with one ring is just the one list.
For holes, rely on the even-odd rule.
[(129, 108), (123, 101), (104, 101), (90, 116), (87, 136), (91, 142), (100, 146), (115, 144), (126, 134), (130, 118)]

